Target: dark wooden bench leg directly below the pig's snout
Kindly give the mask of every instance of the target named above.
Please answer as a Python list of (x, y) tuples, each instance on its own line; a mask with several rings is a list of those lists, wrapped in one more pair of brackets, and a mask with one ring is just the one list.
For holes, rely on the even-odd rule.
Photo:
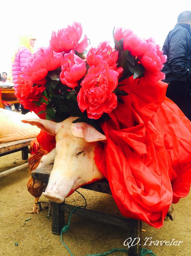
[(52, 233), (59, 235), (64, 226), (64, 212), (60, 210), (59, 204), (53, 202)]

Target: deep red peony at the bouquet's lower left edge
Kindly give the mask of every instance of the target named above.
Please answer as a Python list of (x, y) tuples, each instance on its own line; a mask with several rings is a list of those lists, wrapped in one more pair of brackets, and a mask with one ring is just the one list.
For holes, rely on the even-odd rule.
[(45, 90), (46, 79), (38, 81), (39, 87), (36, 85), (33, 87), (33, 82), (24, 79), (19, 76), (17, 81), (17, 88), (15, 92), (15, 97), (17, 97), (20, 103), (25, 109), (33, 110), (35, 108), (35, 103), (33, 101), (39, 101), (42, 97), (42, 92)]

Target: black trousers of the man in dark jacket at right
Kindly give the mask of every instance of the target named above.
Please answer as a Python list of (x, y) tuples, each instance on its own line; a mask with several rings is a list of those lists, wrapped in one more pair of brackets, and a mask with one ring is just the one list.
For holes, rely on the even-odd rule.
[(184, 115), (191, 121), (191, 83), (172, 81), (167, 88), (166, 96), (172, 100)]

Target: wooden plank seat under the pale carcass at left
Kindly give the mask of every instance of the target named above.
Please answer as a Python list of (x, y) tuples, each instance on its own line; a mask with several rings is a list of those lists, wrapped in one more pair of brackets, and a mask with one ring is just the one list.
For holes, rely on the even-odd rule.
[(27, 147), (30, 145), (32, 139), (34, 138), (0, 143), (0, 154), (11, 150)]

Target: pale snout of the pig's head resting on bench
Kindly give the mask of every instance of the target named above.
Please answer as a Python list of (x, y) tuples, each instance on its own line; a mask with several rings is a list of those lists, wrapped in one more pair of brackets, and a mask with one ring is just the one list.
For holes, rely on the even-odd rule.
[(73, 189), (74, 181), (68, 177), (59, 177), (56, 181), (53, 179), (54, 182), (49, 180), (48, 186), (43, 192), (43, 195), (48, 198), (50, 201), (55, 203), (62, 203), (70, 191)]

